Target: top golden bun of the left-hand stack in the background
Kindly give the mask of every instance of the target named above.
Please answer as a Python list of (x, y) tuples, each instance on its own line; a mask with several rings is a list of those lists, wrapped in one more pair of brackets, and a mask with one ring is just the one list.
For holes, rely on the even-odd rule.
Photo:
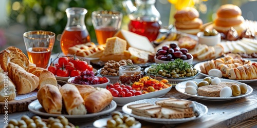
[(181, 22), (193, 20), (194, 18), (198, 18), (198, 17), (199, 17), (199, 12), (192, 7), (187, 7), (187, 8), (178, 10), (174, 15), (174, 18)]

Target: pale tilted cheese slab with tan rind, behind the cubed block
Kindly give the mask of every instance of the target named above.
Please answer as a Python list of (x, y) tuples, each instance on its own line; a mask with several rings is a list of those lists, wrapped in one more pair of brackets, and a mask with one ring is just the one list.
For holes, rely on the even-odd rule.
[(126, 30), (120, 30), (114, 36), (120, 37), (121, 39), (127, 41), (127, 50), (130, 47), (134, 47), (136, 49), (155, 53), (154, 47), (152, 46), (149, 39), (145, 36), (141, 36)]

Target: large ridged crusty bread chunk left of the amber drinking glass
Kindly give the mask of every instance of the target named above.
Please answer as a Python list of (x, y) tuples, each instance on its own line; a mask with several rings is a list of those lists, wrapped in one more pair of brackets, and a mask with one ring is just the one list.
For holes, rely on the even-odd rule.
[(8, 76), (16, 86), (17, 94), (26, 94), (34, 91), (39, 85), (39, 77), (35, 76), (21, 66), (9, 62)]

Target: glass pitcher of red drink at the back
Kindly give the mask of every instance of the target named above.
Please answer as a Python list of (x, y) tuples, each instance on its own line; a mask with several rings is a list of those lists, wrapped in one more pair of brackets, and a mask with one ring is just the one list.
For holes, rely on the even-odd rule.
[[(160, 13), (154, 6), (155, 0), (135, 0), (135, 3), (136, 10), (128, 15), (128, 30), (146, 36), (150, 41), (155, 40), (161, 28)], [(131, 8), (129, 5), (126, 7)]]

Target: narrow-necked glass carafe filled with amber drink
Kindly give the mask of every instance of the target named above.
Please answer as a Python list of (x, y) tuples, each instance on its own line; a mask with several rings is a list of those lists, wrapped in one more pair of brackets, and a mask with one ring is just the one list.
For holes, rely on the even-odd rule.
[(68, 54), (68, 48), (90, 42), (90, 35), (85, 26), (84, 8), (67, 8), (67, 24), (62, 33), (60, 44), (64, 55)]

